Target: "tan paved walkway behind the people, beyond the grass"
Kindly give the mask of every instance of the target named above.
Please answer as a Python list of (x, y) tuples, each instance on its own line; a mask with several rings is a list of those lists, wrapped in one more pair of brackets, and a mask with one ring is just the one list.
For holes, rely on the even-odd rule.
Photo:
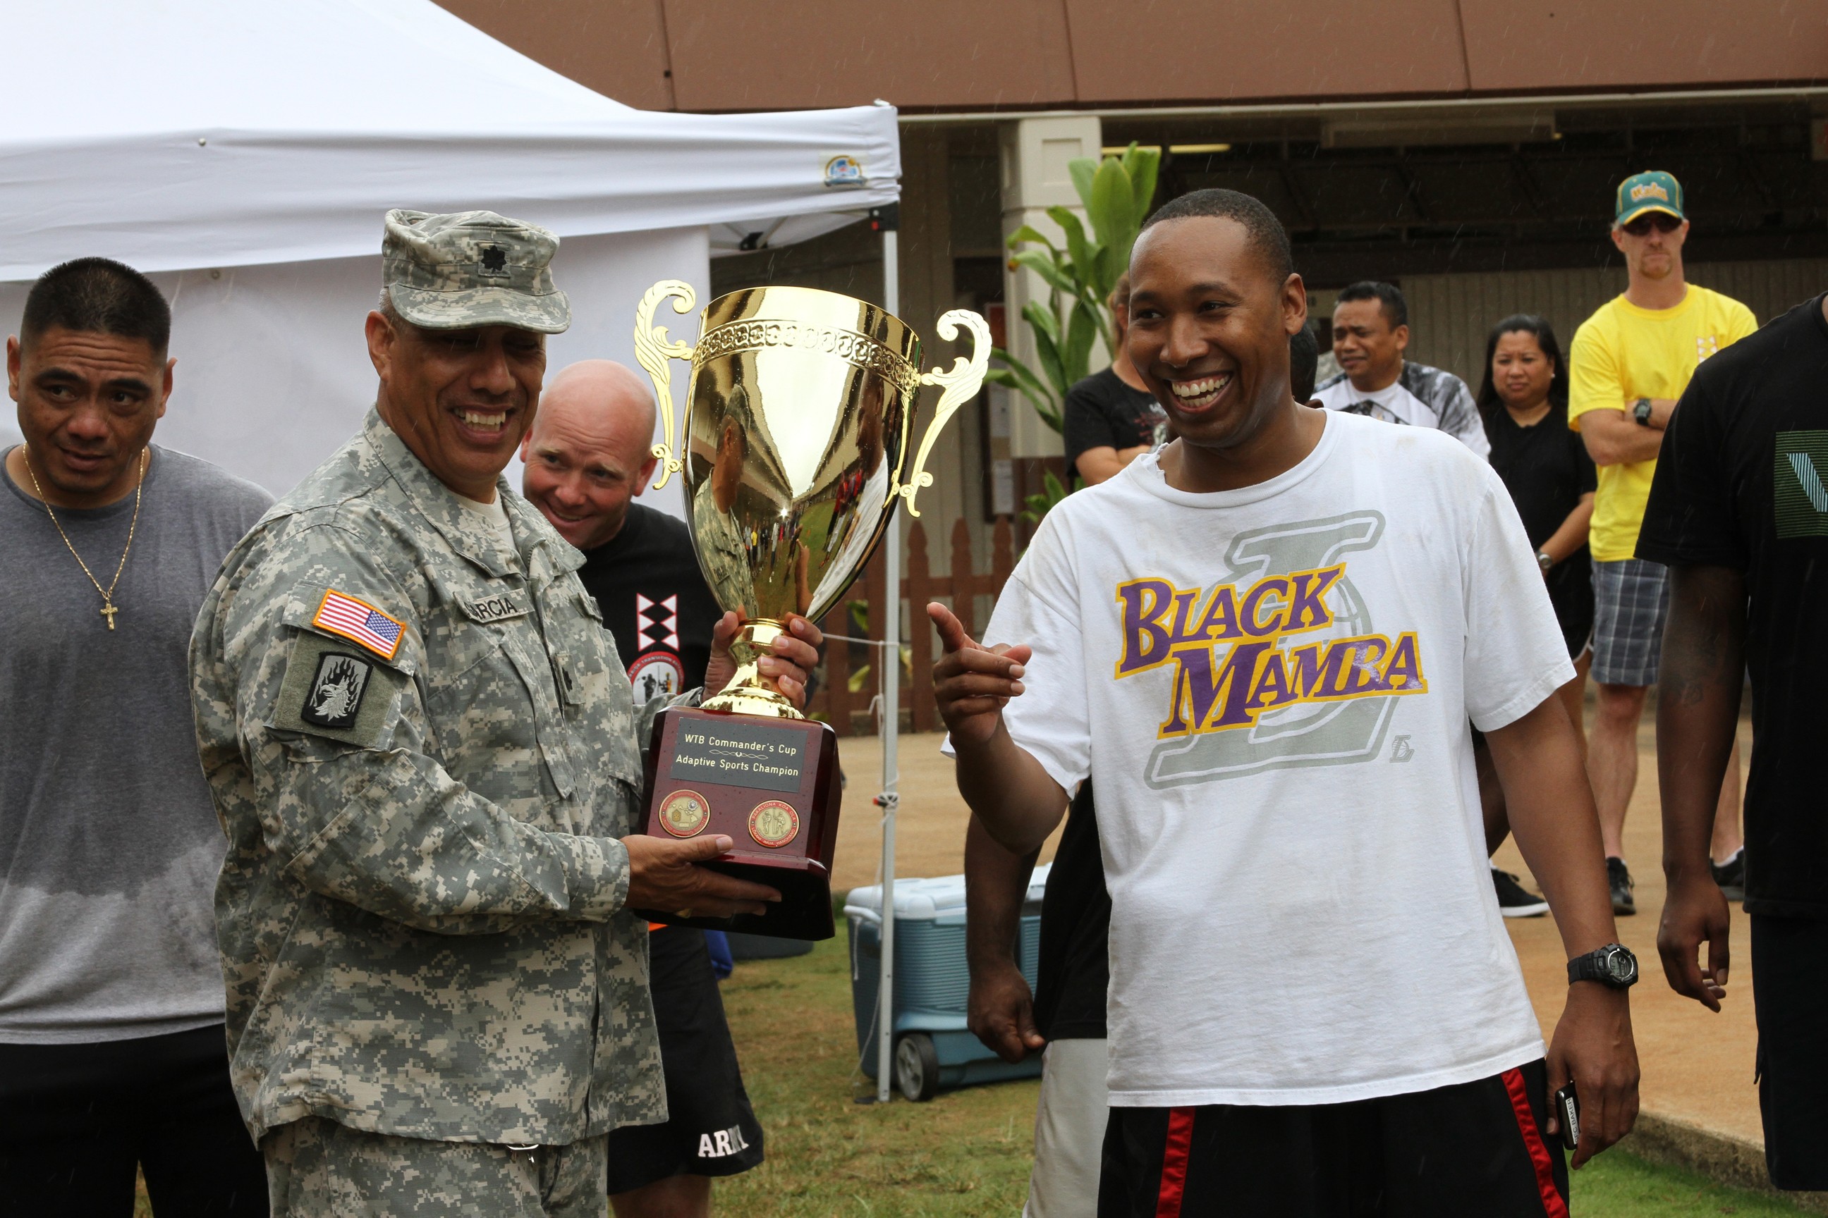
[[(1742, 725), (1749, 758), (1749, 729)], [(841, 741), (850, 787), (839, 824), (835, 886), (876, 884), (881, 849), (879, 818), (870, 796), (879, 789), (881, 745), (876, 738)], [(1656, 957), (1656, 920), (1663, 906), (1662, 820), (1656, 798), (1656, 747), (1651, 714), (1638, 734), (1638, 791), (1625, 820), (1625, 849), (1638, 882), (1638, 915), (1620, 919), (1620, 937), (1643, 964), (1643, 981), (1632, 990), (1632, 1026), (1643, 1065), (1642, 1101), (1647, 1112), (1689, 1121), (1704, 1129), (1762, 1145), (1759, 1092), (1751, 1081), (1757, 1032), (1751, 1017), (1751, 953), (1746, 919), (1733, 908), (1731, 971), (1727, 1001), (1715, 1015), (1689, 999), (1676, 997), (1663, 981)], [(952, 785), (952, 763), (940, 756), (940, 736), (901, 738), (901, 813), (896, 875), (929, 877), (963, 871), (967, 811)], [(1042, 858), (1053, 856), (1053, 842)], [(1534, 880), (1510, 842), (1497, 855), (1499, 866)], [(1554, 1030), (1567, 993), (1567, 957), (1554, 919), (1508, 922), (1525, 981), (1536, 999), (1543, 1037)]]

